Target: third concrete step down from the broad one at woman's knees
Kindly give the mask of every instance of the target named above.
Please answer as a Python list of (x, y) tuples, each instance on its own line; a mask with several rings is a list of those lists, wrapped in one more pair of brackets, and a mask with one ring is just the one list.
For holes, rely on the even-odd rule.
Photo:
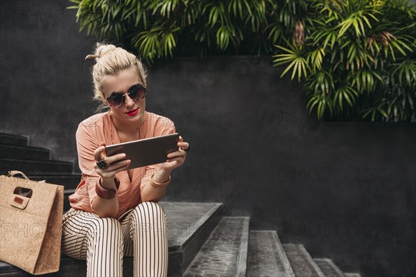
[(302, 244), (283, 244), (283, 249), (296, 277), (325, 277)]

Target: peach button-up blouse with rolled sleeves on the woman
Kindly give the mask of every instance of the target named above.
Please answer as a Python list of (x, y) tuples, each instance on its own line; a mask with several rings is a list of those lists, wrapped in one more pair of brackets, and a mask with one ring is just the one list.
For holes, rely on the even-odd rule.
[[(140, 139), (175, 133), (175, 125), (172, 120), (148, 111), (144, 111), (143, 116), (144, 123), (140, 127)], [(94, 170), (94, 163), (96, 163), (94, 150), (101, 142), (105, 142), (105, 145), (121, 143), (110, 118), (110, 111), (90, 116), (83, 120), (76, 130), (78, 162), (85, 180), (85, 184), (81, 182), (75, 193), (69, 196), (71, 207), (76, 210), (94, 213), (92, 202), (97, 196), (95, 186), (100, 178)], [(149, 178), (156, 168), (157, 165), (135, 168), (131, 182), (127, 170), (116, 173), (116, 177), (120, 181), (119, 190), (117, 190), (119, 211), (116, 218), (141, 203), (141, 190), (149, 184)]]

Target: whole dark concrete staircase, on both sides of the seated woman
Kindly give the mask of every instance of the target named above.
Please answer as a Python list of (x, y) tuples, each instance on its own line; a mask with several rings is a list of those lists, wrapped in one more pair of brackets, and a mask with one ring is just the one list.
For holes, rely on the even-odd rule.
[[(25, 136), (0, 133), (0, 150), (2, 175), (29, 172), (31, 179), (64, 185), (66, 195), (78, 185), (80, 175), (67, 168), (70, 162), (50, 161), (49, 150), (28, 146)], [(224, 216), (222, 203), (159, 204), (168, 217), (168, 276), (361, 276), (344, 274), (329, 258), (313, 259), (302, 244), (281, 244), (276, 231), (250, 231), (250, 217)], [(69, 204), (65, 206), (66, 211)], [(132, 268), (132, 258), (125, 257), (124, 276), (132, 276)], [(60, 271), (45, 276), (85, 276), (86, 270), (85, 261), (62, 254)], [(31, 274), (0, 262), (0, 276)]]

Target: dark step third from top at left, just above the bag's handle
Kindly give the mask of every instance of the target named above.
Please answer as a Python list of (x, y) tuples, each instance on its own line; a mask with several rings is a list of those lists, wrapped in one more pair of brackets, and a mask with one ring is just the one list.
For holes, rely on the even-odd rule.
[(0, 173), (7, 174), (9, 170), (19, 170), (26, 175), (71, 174), (72, 161), (36, 161), (23, 159), (0, 158)]

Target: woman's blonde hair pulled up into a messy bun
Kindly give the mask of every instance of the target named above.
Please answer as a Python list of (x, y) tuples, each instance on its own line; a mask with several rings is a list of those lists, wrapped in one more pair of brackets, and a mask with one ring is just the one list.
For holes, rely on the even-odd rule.
[(102, 100), (104, 93), (101, 82), (107, 75), (117, 75), (126, 69), (136, 69), (141, 84), (146, 87), (147, 71), (135, 54), (121, 47), (105, 42), (97, 42), (94, 45), (94, 54), (87, 55), (85, 60), (95, 59), (96, 64), (92, 66), (92, 82), (94, 84), (94, 99)]

